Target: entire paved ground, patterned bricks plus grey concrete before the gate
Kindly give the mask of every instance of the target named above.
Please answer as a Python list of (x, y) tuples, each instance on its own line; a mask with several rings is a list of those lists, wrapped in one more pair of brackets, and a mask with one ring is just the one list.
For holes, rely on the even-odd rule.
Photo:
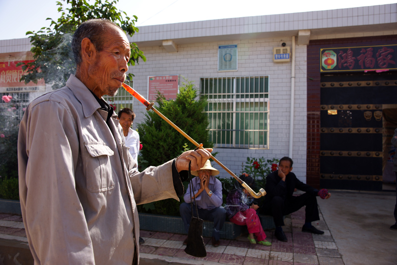
[[(325, 231), (324, 235), (301, 232), (301, 209), (285, 219), (288, 242), (275, 239), (273, 231), (265, 231), (272, 243), (270, 247), (251, 245), (247, 235), (221, 240), (217, 248), (212, 247), (209, 238), (204, 238), (207, 257), (195, 258), (184, 252), (182, 242), (186, 235), (141, 231), (145, 243), (140, 246), (140, 264), (395, 265), (397, 231), (389, 226), (394, 222), (396, 193), (331, 192), (329, 200), (318, 199), (321, 220), (313, 223)], [(20, 250), (28, 248), (21, 217), (0, 214), (0, 264), (31, 264), (21, 262), (23, 250), (3, 254), (3, 246), (15, 243)]]

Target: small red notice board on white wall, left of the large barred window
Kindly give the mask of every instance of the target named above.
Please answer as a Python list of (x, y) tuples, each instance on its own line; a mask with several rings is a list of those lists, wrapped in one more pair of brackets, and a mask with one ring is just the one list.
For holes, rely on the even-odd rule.
[(178, 94), (178, 76), (151, 76), (148, 77), (149, 101), (156, 100), (157, 91), (160, 91), (166, 99), (175, 99)]

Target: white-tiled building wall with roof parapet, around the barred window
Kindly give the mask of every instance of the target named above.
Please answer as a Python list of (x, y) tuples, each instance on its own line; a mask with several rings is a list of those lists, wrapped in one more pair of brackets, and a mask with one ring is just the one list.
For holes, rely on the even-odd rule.
[[(180, 75), (193, 81), (197, 88), (201, 88), (202, 82), (208, 78), (229, 78), (233, 82), (241, 78), (267, 77), (268, 99), (265, 100), (266, 96), (262, 101), (258, 99), (267, 103), (268, 118), (265, 118), (265, 123), (268, 123), (263, 129), (265, 142), (261, 142), (262, 146), (259, 143), (258, 146), (248, 145), (257, 148), (216, 148), (215, 151), (219, 152), (217, 159), (239, 174), (248, 156), (269, 159), (291, 156), (294, 160), (293, 172), (297, 177), (318, 185), (320, 155), (311, 151), (316, 148), (320, 151), (321, 148), (312, 148), (308, 143), (313, 141), (312, 136), (319, 138), (320, 127), (319, 124), (317, 129), (310, 127), (312, 121), (308, 120), (311, 114), (308, 109), (313, 94), (308, 88), (311, 86), (309, 83), (316, 80), (320, 87), (320, 69), (318, 78), (311, 76), (312, 72), (308, 69), (309, 47), (317, 42), (327, 47), (349, 41), (364, 43), (353, 46), (368, 46), (371, 44), (365, 44), (366, 41), (379, 39), (382, 42), (384, 36), (397, 44), (396, 9), (397, 4), (386, 4), (143, 26), (139, 28), (139, 33), (129, 38), (147, 59), (129, 70), (135, 76), (133, 88), (146, 97), (148, 76)], [(273, 62), (273, 48), (283, 47), (283, 43), (291, 49), (291, 61)], [(218, 71), (218, 48), (222, 45), (237, 45), (237, 71)], [(344, 44), (339, 47), (350, 46)], [(28, 50), (27, 39), (2, 40), (0, 61), (7, 61), (9, 53)], [(137, 100), (133, 102), (133, 110), (137, 114), (134, 124), (137, 124), (142, 122), (146, 110)], [(320, 123), (319, 118), (317, 121)], [(220, 171), (222, 177), (228, 177), (226, 172)], [(311, 180), (307, 179), (309, 175)]]

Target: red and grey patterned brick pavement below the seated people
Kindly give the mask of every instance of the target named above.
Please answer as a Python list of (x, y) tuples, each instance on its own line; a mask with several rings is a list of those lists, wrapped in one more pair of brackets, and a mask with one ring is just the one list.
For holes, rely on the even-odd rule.
[[(145, 243), (140, 246), (141, 259), (161, 260), (179, 264), (232, 264), (232, 265), (344, 265), (326, 222), (313, 224), (325, 231), (324, 235), (301, 232), (305, 212), (301, 209), (285, 220), (284, 232), (288, 242), (280, 242), (273, 231), (265, 231), (270, 247), (250, 244), (247, 235), (235, 240), (221, 240), (219, 247), (204, 238), (207, 256), (195, 258), (184, 252), (182, 242), (186, 235), (140, 231)], [(22, 218), (0, 214), (0, 239), (27, 242)], [(1, 258), (1, 257), (0, 257)]]

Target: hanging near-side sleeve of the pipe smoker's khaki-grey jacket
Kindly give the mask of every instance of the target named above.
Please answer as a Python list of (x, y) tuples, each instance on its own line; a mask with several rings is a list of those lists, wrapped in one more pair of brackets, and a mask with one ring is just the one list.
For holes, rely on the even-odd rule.
[(95, 264), (74, 179), (78, 143), (67, 106), (43, 101), (26, 109), (18, 136), (19, 194), (35, 264)]

